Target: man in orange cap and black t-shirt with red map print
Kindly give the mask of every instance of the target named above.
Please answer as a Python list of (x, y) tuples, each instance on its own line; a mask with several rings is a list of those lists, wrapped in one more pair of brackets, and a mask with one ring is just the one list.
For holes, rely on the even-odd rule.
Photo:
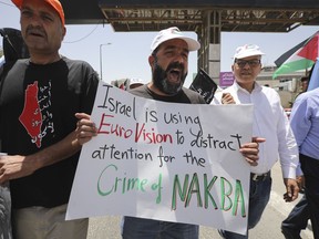
[(58, 0), (12, 0), (30, 59), (1, 81), (0, 184), (10, 181), (14, 239), (85, 239), (88, 219), (65, 221), (81, 145), (75, 113), (90, 114), (99, 83), (83, 61), (59, 54), (65, 35)]

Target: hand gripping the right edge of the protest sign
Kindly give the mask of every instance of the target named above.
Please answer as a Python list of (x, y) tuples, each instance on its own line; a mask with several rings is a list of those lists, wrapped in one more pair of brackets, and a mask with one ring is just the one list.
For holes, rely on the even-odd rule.
[(266, 141), (265, 138), (253, 137), (251, 143), (241, 145), (239, 150), (247, 160), (247, 163), (250, 164), (251, 166), (258, 165), (259, 143), (264, 143), (265, 141)]

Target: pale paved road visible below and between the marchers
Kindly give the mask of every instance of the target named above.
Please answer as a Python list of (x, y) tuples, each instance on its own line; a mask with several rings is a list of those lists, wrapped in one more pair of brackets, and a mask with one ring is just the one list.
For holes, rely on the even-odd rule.
[[(290, 212), (295, 202), (286, 204), (282, 199), (284, 183), (279, 164), (276, 164), (272, 172), (272, 191), (261, 221), (250, 230), (250, 239), (284, 239), (280, 232), (280, 224)], [(299, 197), (300, 198), (300, 197)], [(121, 217), (91, 218), (88, 239), (121, 239), (120, 236)], [(310, 226), (309, 226), (310, 228)], [(307, 229), (301, 233), (302, 239), (311, 239), (311, 230)], [(219, 239), (219, 235), (214, 228), (200, 227), (200, 239)]]

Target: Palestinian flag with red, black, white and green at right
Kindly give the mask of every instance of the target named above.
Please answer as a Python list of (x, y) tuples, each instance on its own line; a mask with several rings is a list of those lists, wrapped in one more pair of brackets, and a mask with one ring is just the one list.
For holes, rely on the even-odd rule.
[(319, 31), (295, 48), (285, 52), (275, 61), (275, 64), (278, 66), (278, 69), (274, 73), (272, 79), (276, 79), (280, 74), (310, 69), (319, 56), (318, 42)]

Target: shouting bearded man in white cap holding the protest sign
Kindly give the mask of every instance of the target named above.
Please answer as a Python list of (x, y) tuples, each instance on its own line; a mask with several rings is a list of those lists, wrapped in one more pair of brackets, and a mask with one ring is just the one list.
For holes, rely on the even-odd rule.
[[(206, 104), (196, 92), (183, 87), (188, 69), (188, 53), (200, 48), (199, 43), (185, 37), (176, 27), (162, 30), (154, 39), (148, 58), (152, 69), (152, 82), (132, 90), (131, 93), (145, 98), (169, 103)], [(97, 129), (90, 115), (76, 114), (78, 139), (81, 144), (97, 135)], [(240, 153), (245, 159), (256, 165), (258, 160), (258, 143), (243, 144)], [(124, 239), (148, 238), (198, 238), (198, 226), (168, 222), (137, 217), (124, 217), (122, 237)]]

